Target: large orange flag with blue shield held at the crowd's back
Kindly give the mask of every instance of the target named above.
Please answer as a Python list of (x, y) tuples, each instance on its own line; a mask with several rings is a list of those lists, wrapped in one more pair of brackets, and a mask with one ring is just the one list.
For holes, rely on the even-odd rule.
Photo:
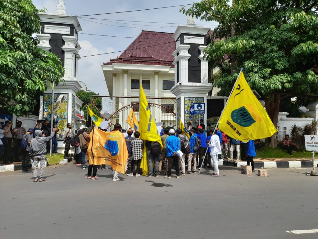
[(120, 131), (105, 132), (93, 128), (87, 142), (89, 164), (107, 164), (117, 172), (125, 173), (128, 150), (125, 137)]

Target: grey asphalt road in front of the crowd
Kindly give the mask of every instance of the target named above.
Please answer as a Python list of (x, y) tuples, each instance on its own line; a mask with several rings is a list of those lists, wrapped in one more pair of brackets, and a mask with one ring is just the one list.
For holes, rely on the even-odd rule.
[(179, 179), (119, 175), (100, 180), (73, 163), (33, 174), (0, 173), (1, 239), (81, 238), (318, 238), (318, 177), (310, 169), (273, 169), (269, 177), (221, 167), (220, 177)]

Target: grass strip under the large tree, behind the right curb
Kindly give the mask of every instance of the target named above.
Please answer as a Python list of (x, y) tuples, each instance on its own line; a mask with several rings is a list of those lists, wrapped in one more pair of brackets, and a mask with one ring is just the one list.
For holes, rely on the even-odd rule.
[(311, 152), (293, 152), (293, 156), (290, 156), (287, 151), (281, 148), (268, 148), (262, 147), (256, 150), (257, 156), (255, 158), (308, 158), (311, 157)]

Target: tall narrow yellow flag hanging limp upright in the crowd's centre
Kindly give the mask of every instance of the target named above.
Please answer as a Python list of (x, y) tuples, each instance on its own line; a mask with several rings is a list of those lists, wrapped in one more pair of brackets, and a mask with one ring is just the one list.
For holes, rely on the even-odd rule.
[(157, 132), (157, 127), (154, 119), (152, 118), (148, 101), (143, 91), (142, 85), (140, 86), (140, 106), (139, 106), (139, 132), (142, 140), (162, 142), (160, 135)]

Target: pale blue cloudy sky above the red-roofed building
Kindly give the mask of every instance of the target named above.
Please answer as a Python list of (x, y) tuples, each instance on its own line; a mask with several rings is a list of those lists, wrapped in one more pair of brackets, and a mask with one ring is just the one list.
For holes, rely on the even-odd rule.
[[(45, 7), (47, 9), (47, 12), (55, 12), (58, 0), (32, 0), (32, 2), (38, 9), (42, 9), (43, 7)], [(64, 0), (64, 3), (66, 6), (67, 14), (79, 16), (184, 5), (192, 4), (193, 2), (191, 2), (190, 0)], [(190, 5), (186, 7), (188, 8), (190, 7)], [(81, 46), (79, 55), (86, 56), (109, 53), (114, 51), (122, 51), (125, 50), (134, 40), (133, 38), (93, 36), (81, 33), (125, 36), (134, 38), (137, 37), (142, 30), (174, 33), (177, 25), (187, 23), (187, 16), (179, 12), (180, 8), (181, 7), (171, 7), (148, 11), (88, 16), (88, 18), (103, 18), (110, 20), (97, 20), (88, 18), (85, 19), (80, 17), (78, 18), (78, 20), (82, 27), (82, 31), (78, 34), (78, 41), (79, 45)], [(114, 22), (116, 20), (117, 22)], [(121, 22), (118, 20), (127, 20), (127, 22)], [(144, 21), (145, 23), (132, 21)], [(199, 19), (195, 19), (195, 21), (197, 25), (211, 27), (212, 30), (217, 26), (216, 22), (201, 22)], [(149, 22), (173, 24), (158, 24)], [(91, 89), (95, 93), (108, 96), (109, 94), (101, 65), (103, 64), (103, 62), (109, 62), (110, 58), (116, 58), (120, 54), (121, 52), (81, 58), (79, 60), (77, 79), (84, 82), (87, 88)]]

